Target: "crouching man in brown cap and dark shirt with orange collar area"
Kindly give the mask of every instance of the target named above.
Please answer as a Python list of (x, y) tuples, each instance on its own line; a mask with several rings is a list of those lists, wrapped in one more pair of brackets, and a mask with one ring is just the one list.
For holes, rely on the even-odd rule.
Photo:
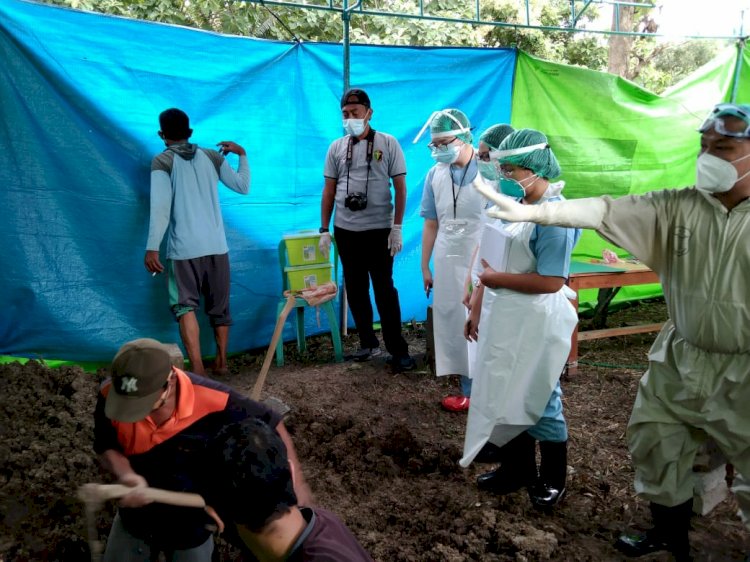
[[(169, 350), (153, 339), (123, 345), (111, 371), (94, 414), (94, 450), (104, 468), (133, 491), (120, 502), (104, 562), (148, 562), (159, 552), (170, 562), (211, 562), (214, 543), (205, 513), (149, 503), (140, 490), (201, 490), (217, 472), (209, 454), (216, 435), (246, 419), (275, 428), (269, 431), (298, 465), (281, 417), (225, 385), (173, 367)], [(296, 496), (312, 505), (310, 489), (299, 471), (297, 476)]]

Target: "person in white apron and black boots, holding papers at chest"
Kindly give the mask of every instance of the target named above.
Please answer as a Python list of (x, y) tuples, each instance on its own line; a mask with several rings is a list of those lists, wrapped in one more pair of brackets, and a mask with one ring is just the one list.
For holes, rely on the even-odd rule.
[[(485, 183), (485, 194), (524, 207), (560, 204), (565, 183), (550, 182), (561, 170), (544, 134), (515, 131), (496, 156), (500, 193)], [(567, 477), (560, 375), (578, 317), (565, 280), (580, 231), (495, 222), (482, 235), (482, 269), (465, 328), (478, 345), (461, 465), (482, 462), (494, 449), (500, 467), (480, 475), (479, 488), (509, 494), (526, 487), (535, 507), (551, 508), (564, 496)]]

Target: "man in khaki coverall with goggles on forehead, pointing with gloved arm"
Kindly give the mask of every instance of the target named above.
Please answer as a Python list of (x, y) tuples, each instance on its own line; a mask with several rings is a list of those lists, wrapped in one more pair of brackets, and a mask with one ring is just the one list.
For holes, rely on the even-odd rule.
[(496, 203), (492, 216), (594, 229), (659, 275), (669, 320), (627, 430), (653, 528), (620, 537), (629, 556), (690, 560), (693, 462), (706, 438), (736, 468), (746, 525), (750, 516), (750, 105), (719, 104), (699, 130), (692, 188), (527, 206), (477, 186)]

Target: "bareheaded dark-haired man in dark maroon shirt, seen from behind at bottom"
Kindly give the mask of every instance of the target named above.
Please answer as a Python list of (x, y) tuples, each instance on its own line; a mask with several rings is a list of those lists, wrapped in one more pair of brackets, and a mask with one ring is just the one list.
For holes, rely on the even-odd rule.
[(227, 426), (215, 445), (217, 472), (203, 496), (226, 525), (227, 540), (260, 562), (372, 562), (333, 513), (297, 505), (297, 467), (263, 420)]

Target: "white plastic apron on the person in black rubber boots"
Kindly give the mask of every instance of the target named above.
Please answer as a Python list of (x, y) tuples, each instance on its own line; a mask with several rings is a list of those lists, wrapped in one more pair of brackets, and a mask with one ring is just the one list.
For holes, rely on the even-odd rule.
[[(559, 196), (564, 185), (550, 184), (539, 202)], [(529, 248), (535, 227), (529, 222), (504, 224), (512, 236), (508, 273), (536, 271)], [(541, 418), (578, 322), (571, 296), (565, 285), (548, 294), (484, 288), (461, 466), (469, 466), (488, 441), (501, 447)]]

